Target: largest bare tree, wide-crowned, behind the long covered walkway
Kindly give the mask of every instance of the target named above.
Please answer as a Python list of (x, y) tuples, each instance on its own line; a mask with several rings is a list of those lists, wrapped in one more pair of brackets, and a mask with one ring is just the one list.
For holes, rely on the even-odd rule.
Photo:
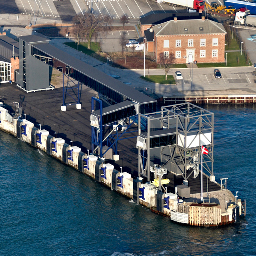
[(84, 34), (88, 41), (88, 49), (91, 48), (91, 38), (96, 33), (96, 30), (99, 28), (102, 30), (106, 29), (106, 26), (103, 25), (106, 19), (109, 20), (108, 16), (96, 16), (89, 12), (85, 13), (84, 15), (76, 15), (73, 18), (73, 22), (75, 24), (80, 24), (81, 27), (83, 27)]

